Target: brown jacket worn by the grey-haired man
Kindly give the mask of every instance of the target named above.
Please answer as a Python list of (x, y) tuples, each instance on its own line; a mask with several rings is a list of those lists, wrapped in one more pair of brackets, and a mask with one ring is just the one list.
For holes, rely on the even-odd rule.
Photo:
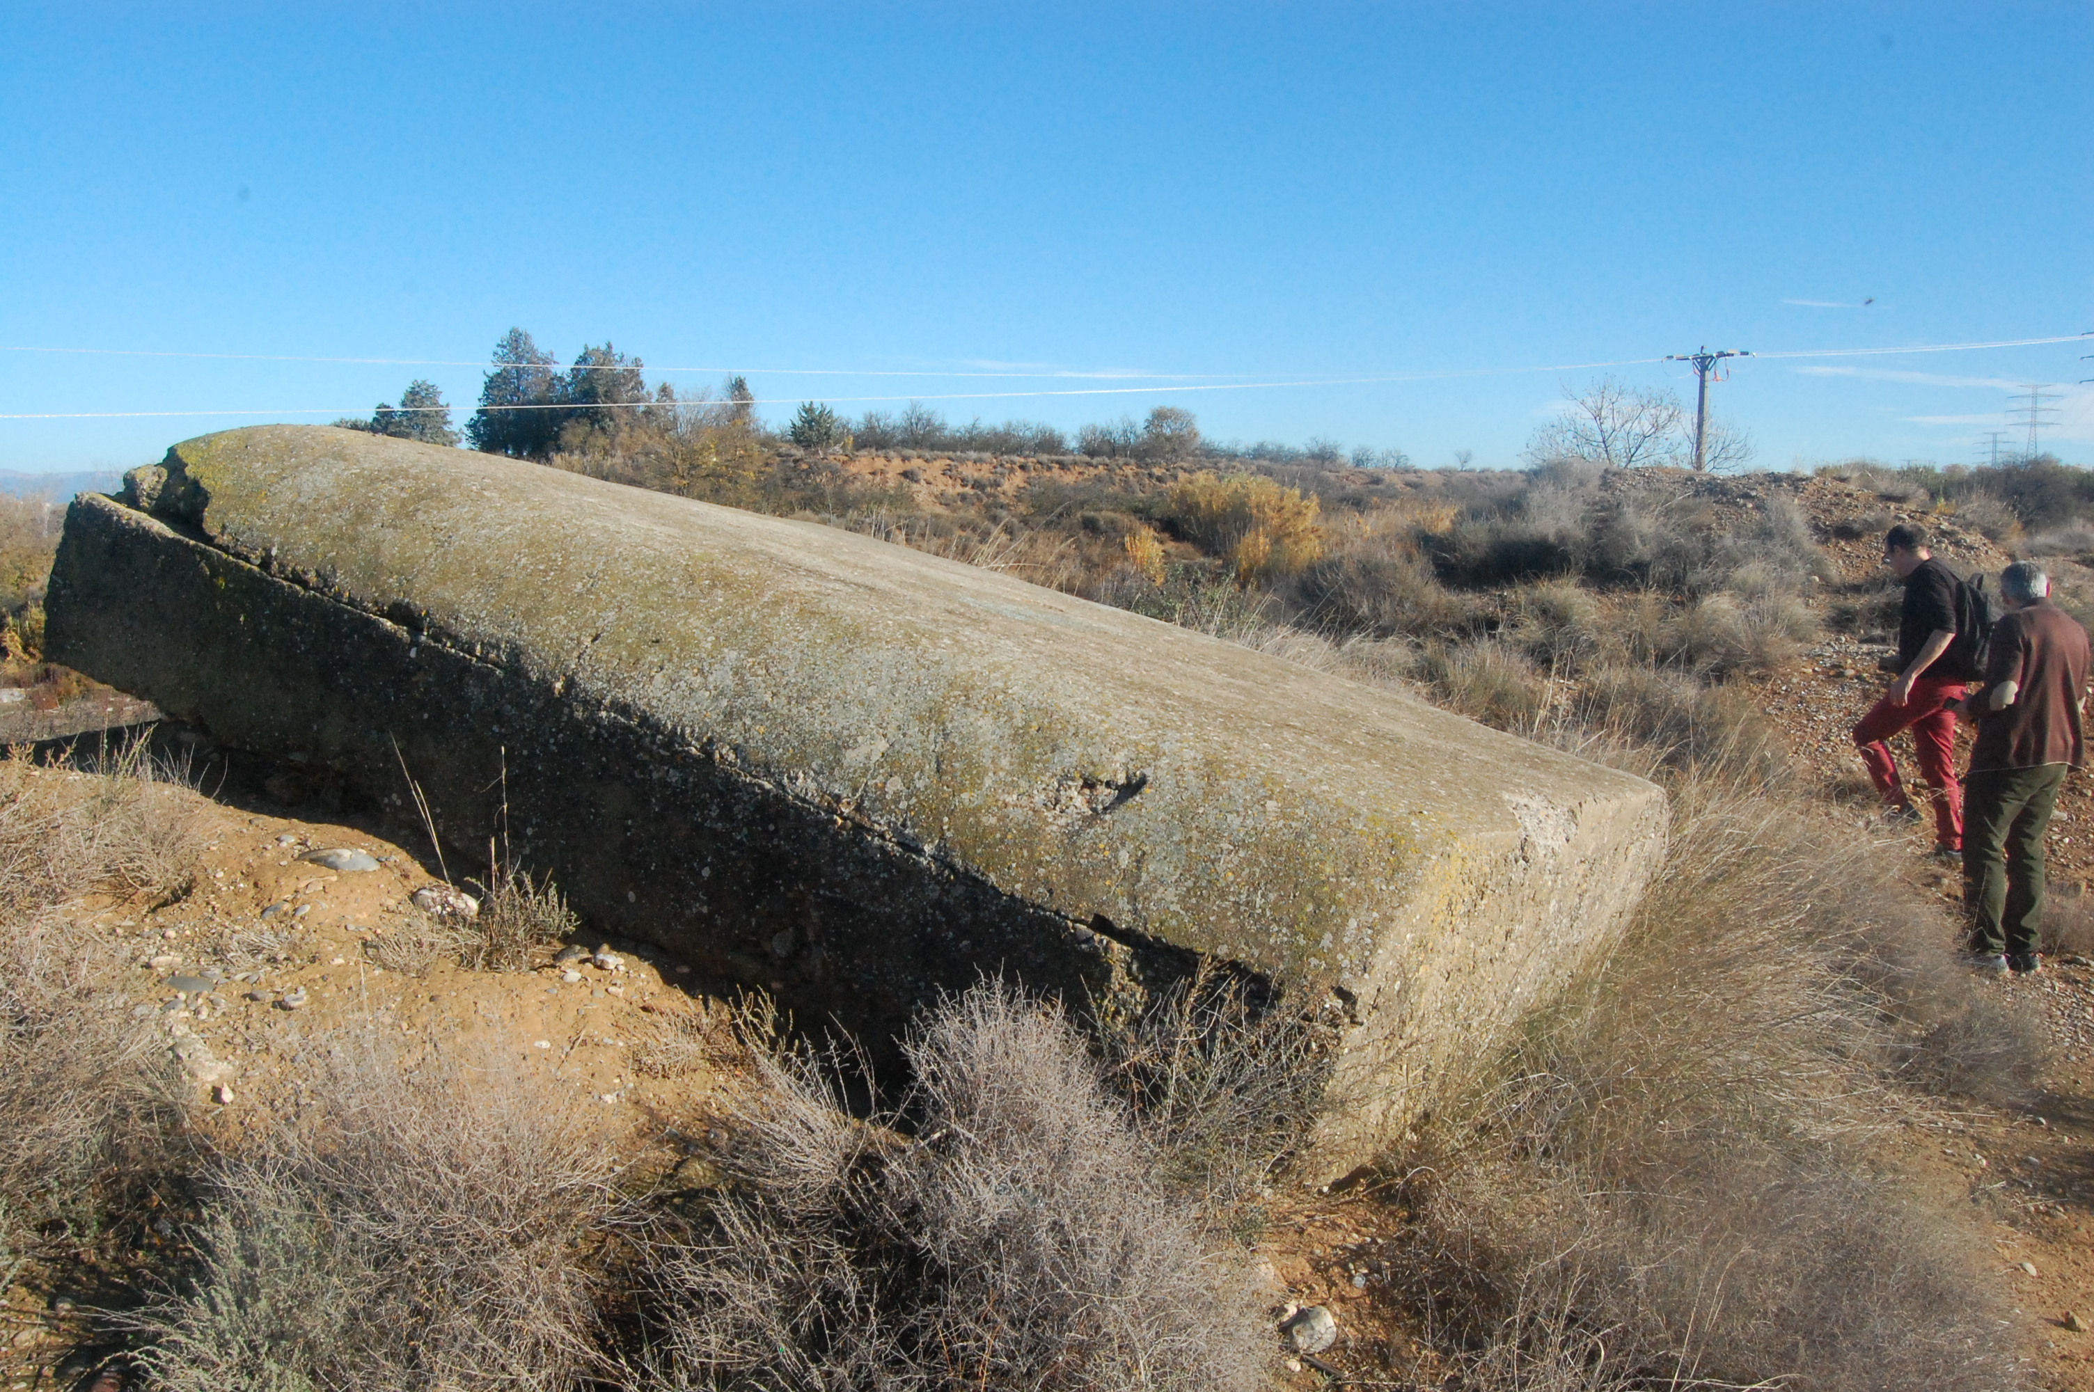
[[(2086, 741), (2079, 708), (2088, 695), (2088, 632), (2048, 599), (2012, 609), (1991, 628), (1985, 684), (1970, 693), (1977, 743), (1970, 772), (2079, 768)], [(2014, 682), (2014, 703), (1991, 710), (1991, 691)]]

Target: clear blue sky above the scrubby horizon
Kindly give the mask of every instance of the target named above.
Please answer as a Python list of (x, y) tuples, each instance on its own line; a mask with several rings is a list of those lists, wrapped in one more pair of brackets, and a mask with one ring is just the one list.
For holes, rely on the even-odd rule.
[[(2090, 73), (2086, 0), (17, 4), (0, 345), (258, 358), (0, 352), (0, 414), (262, 414), (0, 419), (0, 469), (410, 377), (471, 404), (473, 366), (260, 358), (471, 364), (511, 324), (852, 414), (1171, 402), (1512, 465), (1600, 373), (1512, 368), (2094, 329)], [(1765, 358), (1715, 402), (1761, 467), (1958, 463), (2058, 383), (2046, 444), (2094, 463), (2079, 354)], [(999, 371), (1039, 377), (959, 375)], [(1104, 387), (1139, 389), (936, 400)]]

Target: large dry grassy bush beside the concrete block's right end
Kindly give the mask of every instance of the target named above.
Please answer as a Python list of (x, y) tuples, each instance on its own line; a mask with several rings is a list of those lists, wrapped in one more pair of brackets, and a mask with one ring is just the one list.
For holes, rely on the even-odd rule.
[(1612, 961), (1443, 1118), (1420, 1279), (1476, 1294), (1447, 1333), (1499, 1361), (1585, 1331), (1610, 1377), (2012, 1382), (1975, 1235), (1868, 1147), (1899, 1082), (1998, 1099), (2027, 1063), (1893, 852), (1681, 783)]

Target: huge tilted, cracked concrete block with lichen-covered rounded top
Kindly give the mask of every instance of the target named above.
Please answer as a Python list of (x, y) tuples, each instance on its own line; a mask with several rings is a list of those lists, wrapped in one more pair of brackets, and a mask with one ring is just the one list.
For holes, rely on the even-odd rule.
[(1650, 783), (815, 523), (325, 427), (82, 496), (59, 661), (526, 865), (597, 925), (890, 1034), (1001, 969), (1212, 955), (1342, 1019), (1326, 1164), (1619, 927)]

